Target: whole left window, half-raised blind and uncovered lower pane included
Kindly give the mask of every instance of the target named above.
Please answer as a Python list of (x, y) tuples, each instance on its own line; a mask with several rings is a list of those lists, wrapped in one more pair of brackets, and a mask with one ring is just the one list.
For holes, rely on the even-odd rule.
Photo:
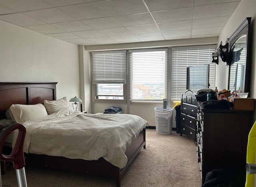
[(124, 100), (126, 51), (92, 52), (92, 82), (96, 100)]

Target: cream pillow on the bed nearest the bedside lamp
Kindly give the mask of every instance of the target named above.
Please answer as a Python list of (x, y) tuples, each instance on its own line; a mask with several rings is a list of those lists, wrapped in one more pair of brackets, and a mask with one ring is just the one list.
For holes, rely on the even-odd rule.
[(52, 114), (62, 108), (66, 108), (68, 106), (68, 100), (66, 97), (58, 100), (44, 100), (44, 106), (47, 110), (47, 113)]

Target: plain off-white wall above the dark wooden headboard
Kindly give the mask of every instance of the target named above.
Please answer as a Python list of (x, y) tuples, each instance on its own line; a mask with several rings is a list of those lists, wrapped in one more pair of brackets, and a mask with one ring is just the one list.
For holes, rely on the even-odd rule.
[(0, 21), (0, 81), (58, 82), (57, 99), (79, 96), (78, 45)]

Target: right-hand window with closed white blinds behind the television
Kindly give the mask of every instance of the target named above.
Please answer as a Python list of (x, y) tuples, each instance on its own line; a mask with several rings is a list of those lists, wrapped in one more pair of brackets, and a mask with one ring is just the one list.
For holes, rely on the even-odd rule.
[(215, 88), (215, 63), (212, 63), (212, 53), (216, 45), (172, 47), (171, 62), (171, 102), (180, 102), (180, 94), (186, 90), (186, 68), (195, 65), (210, 64), (209, 83)]

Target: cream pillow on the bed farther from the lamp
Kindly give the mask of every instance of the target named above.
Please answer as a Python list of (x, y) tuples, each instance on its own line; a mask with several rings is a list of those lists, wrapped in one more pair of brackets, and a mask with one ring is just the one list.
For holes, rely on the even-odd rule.
[(23, 124), (27, 120), (39, 118), (41, 116), (47, 116), (46, 108), (43, 104), (12, 104), (10, 107), (12, 120), (17, 123)]

